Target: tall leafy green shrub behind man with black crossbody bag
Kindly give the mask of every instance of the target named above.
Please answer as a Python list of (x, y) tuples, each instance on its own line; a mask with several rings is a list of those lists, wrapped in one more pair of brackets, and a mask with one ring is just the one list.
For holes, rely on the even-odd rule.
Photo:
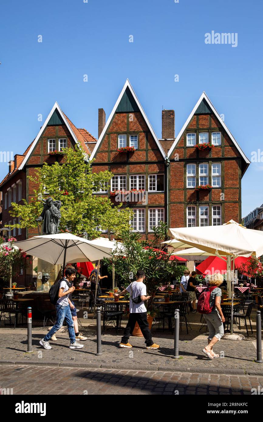
[(146, 290), (151, 296), (146, 303), (149, 311), (152, 310), (152, 295), (157, 288), (167, 284), (171, 276), (178, 277), (180, 273), (176, 260), (170, 260), (171, 253), (164, 253), (163, 250), (162, 242), (167, 235), (167, 230), (167, 225), (161, 222), (160, 226), (155, 228), (154, 238), (150, 242), (141, 240), (140, 233), (123, 230), (119, 234), (122, 246), (113, 251), (113, 258), (104, 260), (111, 273), (114, 264), (117, 285), (120, 288), (125, 288), (131, 281), (136, 280), (139, 269), (145, 271)]

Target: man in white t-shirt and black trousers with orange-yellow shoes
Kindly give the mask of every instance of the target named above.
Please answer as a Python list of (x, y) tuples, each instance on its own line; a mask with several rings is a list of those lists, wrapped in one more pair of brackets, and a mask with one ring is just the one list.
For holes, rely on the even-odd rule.
[(155, 344), (152, 341), (152, 333), (149, 330), (147, 310), (144, 305), (144, 301), (148, 300), (150, 296), (146, 296), (146, 286), (144, 284), (144, 279), (145, 272), (143, 270), (138, 270), (137, 280), (133, 281), (125, 290), (122, 290), (122, 292), (119, 294), (115, 293), (115, 296), (118, 298), (125, 293), (130, 294), (130, 315), (119, 347), (133, 347), (130, 343), (128, 343), (128, 340), (130, 335), (133, 333), (136, 322), (138, 322), (138, 325), (141, 328), (141, 332), (144, 335), (146, 349), (159, 349), (160, 347), (159, 344)]

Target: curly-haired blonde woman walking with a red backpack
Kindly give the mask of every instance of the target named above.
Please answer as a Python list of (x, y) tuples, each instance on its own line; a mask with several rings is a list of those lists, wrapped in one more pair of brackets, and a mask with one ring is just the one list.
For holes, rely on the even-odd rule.
[(219, 286), (223, 282), (221, 274), (214, 274), (209, 281), (209, 287), (201, 293), (198, 299), (197, 310), (206, 319), (209, 329), (208, 346), (203, 348), (203, 352), (209, 359), (220, 357), (219, 354), (213, 352), (213, 346), (220, 341), (224, 335), (225, 317), (220, 306), (222, 290)]

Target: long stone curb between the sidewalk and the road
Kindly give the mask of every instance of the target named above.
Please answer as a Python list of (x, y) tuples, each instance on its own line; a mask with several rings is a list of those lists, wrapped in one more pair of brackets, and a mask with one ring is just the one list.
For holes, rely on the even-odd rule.
[(114, 363), (92, 363), (89, 362), (86, 365), (82, 362), (68, 362), (67, 365), (61, 364), (59, 360), (54, 360), (52, 362), (40, 362), (39, 360), (36, 362), (32, 361), (25, 361), (25, 360), (2, 360), (0, 365), (32, 365), (32, 366), (55, 366), (61, 368), (85, 368), (85, 369), (122, 369), (122, 370), (131, 370), (131, 371), (160, 371), (160, 372), (185, 372), (185, 373), (211, 373), (211, 374), (218, 374), (218, 375), (257, 375), (263, 376), (263, 364), (256, 364), (260, 365), (259, 369), (248, 369), (245, 371), (244, 369), (239, 368), (203, 368), (195, 366), (194, 368), (189, 368), (187, 366), (172, 366), (172, 365), (123, 365), (123, 364), (114, 364)]

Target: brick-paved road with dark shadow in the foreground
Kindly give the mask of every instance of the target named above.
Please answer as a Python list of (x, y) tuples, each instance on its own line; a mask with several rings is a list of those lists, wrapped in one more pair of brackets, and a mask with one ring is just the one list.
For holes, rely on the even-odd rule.
[(0, 365), (0, 386), (14, 395), (251, 395), (263, 387), (263, 377)]

